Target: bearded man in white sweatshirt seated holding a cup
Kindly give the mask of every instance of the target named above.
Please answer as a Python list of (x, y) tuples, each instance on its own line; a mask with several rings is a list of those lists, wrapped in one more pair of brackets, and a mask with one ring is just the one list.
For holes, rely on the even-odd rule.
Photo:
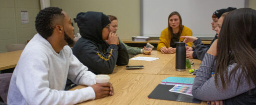
[[(110, 83), (95, 84), (95, 75), (72, 54), (73, 27), (58, 7), (39, 11), (38, 32), (24, 48), (12, 74), (8, 105), (73, 105), (113, 95)], [(89, 87), (63, 91), (66, 79)]]

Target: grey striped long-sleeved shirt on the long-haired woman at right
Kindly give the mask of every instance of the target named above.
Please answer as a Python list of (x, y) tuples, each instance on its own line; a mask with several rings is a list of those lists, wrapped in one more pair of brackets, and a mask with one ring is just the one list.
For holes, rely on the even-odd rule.
[[(211, 70), (215, 59), (215, 56), (207, 53), (205, 54), (203, 61), (196, 72), (192, 86), (192, 95), (194, 98), (202, 101), (226, 100), (255, 88), (252, 81), (250, 82), (251, 85), (249, 88), (249, 84), (245, 79), (245, 76), (241, 75), (241, 68), (237, 69), (235, 74), (230, 75), (231, 70), (236, 65), (235, 63), (228, 66), (227, 76), (230, 75), (230, 78), (228, 79), (229, 84), (225, 84), (226, 89), (224, 91), (222, 90), (222, 84), (219, 76), (217, 77), (217, 85), (219, 87), (217, 87), (214, 83), (214, 76), (211, 77)], [(239, 80), (239, 85), (236, 82), (237, 80)], [(225, 77), (224, 82), (227, 82)]]

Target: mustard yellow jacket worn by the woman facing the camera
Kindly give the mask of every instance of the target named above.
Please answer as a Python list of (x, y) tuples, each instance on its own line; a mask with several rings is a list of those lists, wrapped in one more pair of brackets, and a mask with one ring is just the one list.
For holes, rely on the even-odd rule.
[[(192, 31), (188, 27), (183, 27), (181, 35), (180, 36), (192, 36)], [(183, 41), (184, 38), (179, 38), (179, 42)], [(161, 32), (161, 36), (159, 37), (159, 42), (157, 45), (157, 51), (160, 51), (160, 48), (166, 46), (167, 48), (170, 47), (170, 36), (169, 36), (169, 31), (168, 27), (163, 29)], [(192, 46), (192, 43), (189, 42), (187, 43), (187, 46)]]

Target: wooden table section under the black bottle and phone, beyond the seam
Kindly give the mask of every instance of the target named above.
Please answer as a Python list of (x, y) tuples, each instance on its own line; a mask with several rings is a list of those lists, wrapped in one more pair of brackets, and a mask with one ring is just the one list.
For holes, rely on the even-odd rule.
[[(175, 54), (161, 54), (159, 51), (153, 50), (151, 55), (138, 54), (134, 57), (158, 57), (160, 59), (154, 61), (140, 61), (140, 60), (129, 60), (128, 65), (143, 65), (144, 69), (139, 70), (126, 70), (125, 66), (116, 66), (113, 72), (116, 73), (138, 73), (138, 74), (168, 74), (168, 75), (183, 75), (191, 76), (188, 73), (189, 69), (184, 72), (175, 70)], [(191, 65), (191, 69), (198, 69), (201, 61), (193, 59), (194, 64)]]

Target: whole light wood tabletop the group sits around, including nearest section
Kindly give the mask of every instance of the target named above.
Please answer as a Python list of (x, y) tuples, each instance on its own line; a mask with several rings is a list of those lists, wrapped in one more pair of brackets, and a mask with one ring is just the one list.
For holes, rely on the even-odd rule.
[[(102, 99), (86, 101), (80, 105), (198, 105), (176, 101), (165, 101), (148, 99), (147, 96), (167, 77), (194, 77), (186, 70), (185, 72), (175, 71), (175, 54), (161, 54), (152, 51), (151, 55), (138, 54), (143, 57), (158, 57), (154, 61), (129, 60), (128, 65), (144, 65), (144, 69), (126, 70), (125, 66), (116, 66), (110, 74), (109, 82), (114, 87), (114, 95)], [(200, 60), (193, 59), (194, 65), (191, 68), (197, 69)], [(77, 86), (71, 90), (81, 89), (86, 86)], [(70, 90), (70, 91), (71, 91)], [(201, 102), (206, 105), (206, 102)]]

